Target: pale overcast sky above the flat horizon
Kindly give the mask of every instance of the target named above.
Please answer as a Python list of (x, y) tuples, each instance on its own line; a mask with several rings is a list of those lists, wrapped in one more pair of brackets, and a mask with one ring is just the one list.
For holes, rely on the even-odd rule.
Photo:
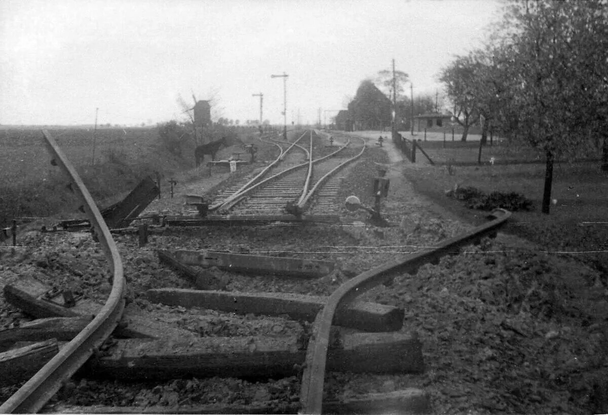
[[(0, 124), (156, 124), (215, 97), (214, 115), (329, 120), (392, 68), (414, 96), (482, 44), (500, 0), (0, 1)], [(409, 85), (407, 86), (409, 89)]]

